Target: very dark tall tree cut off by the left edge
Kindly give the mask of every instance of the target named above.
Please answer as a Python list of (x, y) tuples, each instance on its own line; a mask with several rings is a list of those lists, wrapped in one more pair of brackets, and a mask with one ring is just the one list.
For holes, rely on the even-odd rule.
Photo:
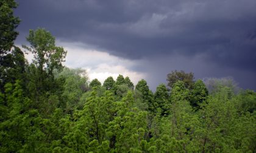
[[(4, 84), (15, 83), (16, 79), (22, 79), (20, 67), (24, 70), (23, 52), (13, 45), (18, 32), (15, 31), (20, 19), (13, 15), (13, 9), (17, 7), (14, 0), (0, 1), (0, 89), (4, 92)], [(12, 47), (15, 47), (12, 49)], [(21, 59), (18, 59), (22, 57)], [(21, 64), (21, 65), (19, 65)]]

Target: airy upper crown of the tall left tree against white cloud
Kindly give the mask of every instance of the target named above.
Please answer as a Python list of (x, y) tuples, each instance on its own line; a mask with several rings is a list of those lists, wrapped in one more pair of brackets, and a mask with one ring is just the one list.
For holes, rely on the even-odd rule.
[(24, 49), (33, 53), (33, 63), (42, 74), (44, 70), (52, 75), (54, 69), (61, 70), (62, 62), (65, 61), (66, 51), (63, 47), (55, 46), (55, 38), (45, 29), (29, 30), (27, 41), (30, 47)]

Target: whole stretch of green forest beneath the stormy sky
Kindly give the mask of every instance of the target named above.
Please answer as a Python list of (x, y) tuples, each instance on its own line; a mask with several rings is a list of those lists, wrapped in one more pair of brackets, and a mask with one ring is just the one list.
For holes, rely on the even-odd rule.
[(15, 46), (16, 7), (0, 1), (0, 152), (256, 152), (254, 90), (182, 70), (155, 92), (129, 76), (89, 81), (45, 29)]

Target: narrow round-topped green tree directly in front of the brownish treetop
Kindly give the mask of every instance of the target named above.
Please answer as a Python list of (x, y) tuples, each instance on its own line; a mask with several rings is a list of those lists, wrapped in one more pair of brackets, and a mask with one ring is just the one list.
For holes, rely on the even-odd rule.
[(198, 152), (194, 146), (196, 139), (193, 136), (196, 132), (196, 125), (199, 120), (196, 114), (193, 114), (188, 98), (188, 89), (183, 81), (177, 81), (173, 84), (171, 90), (171, 135), (177, 140), (182, 141), (183, 151)]

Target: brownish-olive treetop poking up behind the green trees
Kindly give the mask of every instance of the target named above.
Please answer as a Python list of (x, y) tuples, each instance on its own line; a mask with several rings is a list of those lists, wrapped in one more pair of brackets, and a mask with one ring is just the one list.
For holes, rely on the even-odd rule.
[(183, 81), (185, 83), (185, 87), (187, 87), (188, 89), (192, 89), (194, 84), (194, 74), (191, 72), (185, 73), (183, 70), (174, 70), (167, 75), (169, 87), (172, 87), (173, 84), (176, 83), (178, 80)]

